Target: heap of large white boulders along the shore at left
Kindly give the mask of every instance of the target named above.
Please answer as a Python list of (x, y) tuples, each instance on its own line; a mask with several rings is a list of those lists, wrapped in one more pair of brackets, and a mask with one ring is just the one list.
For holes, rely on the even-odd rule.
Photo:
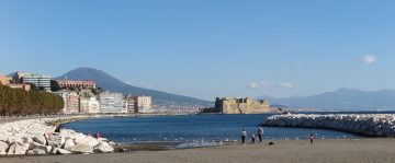
[[(0, 155), (113, 152), (110, 141), (57, 125), (76, 118), (27, 119), (0, 125)], [(57, 131), (57, 132), (55, 132)]]

